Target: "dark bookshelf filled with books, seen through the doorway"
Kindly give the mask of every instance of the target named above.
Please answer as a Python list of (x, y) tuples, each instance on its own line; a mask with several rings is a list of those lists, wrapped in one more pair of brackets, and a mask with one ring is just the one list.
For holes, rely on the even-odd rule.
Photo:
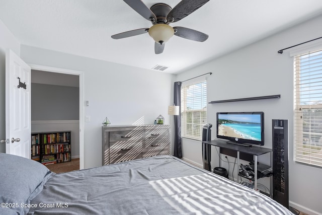
[(44, 165), (71, 161), (70, 131), (32, 133), (31, 159)]

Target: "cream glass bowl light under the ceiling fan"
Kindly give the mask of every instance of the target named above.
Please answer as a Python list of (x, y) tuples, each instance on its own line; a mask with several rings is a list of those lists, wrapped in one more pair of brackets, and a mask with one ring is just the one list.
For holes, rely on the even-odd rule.
[(175, 34), (175, 30), (167, 24), (156, 24), (149, 29), (148, 33), (155, 42), (162, 44)]

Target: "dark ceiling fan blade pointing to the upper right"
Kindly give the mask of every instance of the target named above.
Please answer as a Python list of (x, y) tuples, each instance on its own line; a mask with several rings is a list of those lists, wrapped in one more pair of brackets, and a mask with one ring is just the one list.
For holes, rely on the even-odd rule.
[(182, 0), (168, 14), (168, 22), (178, 22), (189, 14), (202, 7), (209, 0)]

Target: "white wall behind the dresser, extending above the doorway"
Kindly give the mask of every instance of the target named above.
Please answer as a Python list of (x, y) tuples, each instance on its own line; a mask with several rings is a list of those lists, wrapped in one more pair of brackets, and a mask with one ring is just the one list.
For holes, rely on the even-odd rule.
[(105, 117), (113, 125), (153, 124), (162, 114), (170, 124), (174, 75), (25, 45), (21, 46), (21, 58), (30, 64), (84, 71), (84, 97), (89, 101), (85, 115), (91, 118), (85, 122), (85, 168), (102, 164)]

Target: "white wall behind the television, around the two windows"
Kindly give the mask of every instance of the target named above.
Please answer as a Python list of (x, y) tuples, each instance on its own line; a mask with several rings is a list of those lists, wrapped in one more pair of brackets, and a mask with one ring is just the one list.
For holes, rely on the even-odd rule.
[[(288, 119), (290, 205), (310, 214), (322, 212), (322, 169), (293, 162), (293, 58), (287, 50), (284, 54), (277, 51), (320, 37), (321, 23), (322, 16), (319, 16), (177, 76), (177, 81), (180, 81), (212, 72), (207, 82), (209, 102), (281, 95), (280, 99), (208, 104), (207, 120), (215, 125), (215, 114), (221, 111), (264, 111), (264, 147), (272, 148), (272, 119)], [(213, 128), (212, 139), (215, 137)], [(202, 165), (200, 144), (199, 141), (183, 139), (184, 158)], [(215, 150), (212, 150), (212, 158), (212, 161), (218, 160)], [(259, 161), (269, 163), (269, 157), (259, 157)]]

